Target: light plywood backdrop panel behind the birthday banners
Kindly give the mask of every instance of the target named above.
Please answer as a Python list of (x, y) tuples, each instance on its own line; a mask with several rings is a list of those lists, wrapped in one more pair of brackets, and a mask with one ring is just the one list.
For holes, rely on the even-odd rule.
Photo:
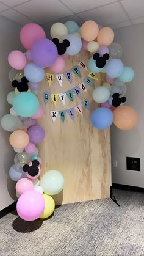
[[(81, 52), (76, 56), (69, 56), (66, 60), (65, 71), (84, 60), (87, 64), (88, 53)], [(73, 82), (70, 84), (63, 77), (60, 87), (56, 78), (51, 84), (43, 79), (40, 85), (39, 99), (43, 103), (43, 92), (62, 93), (72, 89), (82, 82), (88, 71), (80, 68), (82, 77), (73, 74)], [(51, 73), (49, 68), (45, 73)], [(99, 81), (93, 82), (96, 86), (101, 84), (104, 75), (98, 75)], [(74, 101), (66, 96), (65, 106), (60, 99), (56, 106), (50, 99), (45, 106), (45, 115), (38, 121), (45, 128), (46, 137), (39, 144), (40, 157), (42, 158), (43, 175), (48, 170), (59, 170), (65, 179), (63, 191), (54, 196), (56, 205), (64, 203), (81, 202), (86, 200), (101, 199), (110, 196), (111, 166), (110, 166), (110, 130), (98, 131), (90, 124), (90, 113), (98, 107), (92, 99), (93, 88), (87, 86), (87, 92), (82, 92), (81, 98), (74, 95)], [(75, 111), (74, 121), (66, 114), (65, 122), (57, 117), (56, 123), (52, 122), (50, 111), (70, 109), (88, 98), (91, 111), (82, 107), (83, 116)]]

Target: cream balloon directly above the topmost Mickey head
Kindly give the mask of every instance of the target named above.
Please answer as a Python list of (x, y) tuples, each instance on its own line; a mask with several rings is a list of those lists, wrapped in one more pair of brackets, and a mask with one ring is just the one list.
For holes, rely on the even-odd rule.
[(50, 34), (51, 38), (58, 38), (62, 42), (63, 38), (68, 35), (68, 29), (63, 23), (57, 22), (51, 26)]

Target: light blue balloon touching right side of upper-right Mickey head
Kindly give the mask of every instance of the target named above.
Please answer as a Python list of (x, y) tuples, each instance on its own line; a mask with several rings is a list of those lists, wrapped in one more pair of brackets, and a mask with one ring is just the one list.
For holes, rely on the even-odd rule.
[(107, 76), (117, 78), (123, 73), (123, 62), (120, 59), (110, 59), (105, 66)]

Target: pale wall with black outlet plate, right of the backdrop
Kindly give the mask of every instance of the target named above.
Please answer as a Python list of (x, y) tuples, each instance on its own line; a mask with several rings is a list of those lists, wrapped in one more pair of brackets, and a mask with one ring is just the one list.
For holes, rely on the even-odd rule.
[[(112, 159), (117, 160), (112, 182), (144, 188), (144, 23), (115, 30), (115, 42), (123, 48), (124, 65), (135, 70), (135, 78), (126, 84), (126, 104), (138, 112), (139, 122), (129, 131), (112, 126)], [(140, 172), (126, 170), (126, 156), (140, 158)]]

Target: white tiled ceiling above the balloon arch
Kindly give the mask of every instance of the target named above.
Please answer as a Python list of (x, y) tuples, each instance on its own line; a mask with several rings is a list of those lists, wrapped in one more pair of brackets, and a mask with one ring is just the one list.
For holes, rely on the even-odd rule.
[(144, 0), (0, 0), (0, 15), (20, 25), (35, 22), (46, 29), (67, 20), (79, 26), (94, 20), (116, 29), (144, 22)]

